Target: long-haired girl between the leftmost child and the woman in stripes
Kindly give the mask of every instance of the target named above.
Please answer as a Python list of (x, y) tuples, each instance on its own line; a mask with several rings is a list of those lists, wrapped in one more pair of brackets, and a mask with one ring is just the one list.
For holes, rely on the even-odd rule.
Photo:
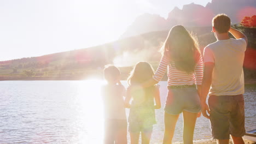
[[(128, 78), (129, 87), (125, 98), (126, 107), (130, 107), (129, 131), (131, 144), (138, 143), (141, 133), (142, 143), (149, 143), (155, 121), (155, 109), (160, 109), (159, 88), (134, 88), (139, 83), (152, 79), (154, 70), (147, 62), (139, 62), (132, 70)], [(129, 104), (132, 98), (131, 105)], [(156, 105), (154, 105), (154, 99)]]

